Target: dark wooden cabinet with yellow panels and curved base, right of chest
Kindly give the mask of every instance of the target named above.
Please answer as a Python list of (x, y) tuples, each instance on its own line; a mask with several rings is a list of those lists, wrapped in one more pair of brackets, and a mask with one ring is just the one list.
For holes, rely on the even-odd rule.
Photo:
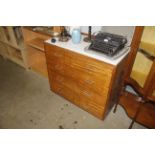
[(132, 128), (135, 121), (149, 128), (155, 128), (154, 35), (155, 27), (136, 27), (131, 44), (123, 88), (126, 85), (132, 86), (138, 97), (122, 91), (120, 98), (120, 105), (124, 107), (128, 116), (132, 118), (129, 128)]

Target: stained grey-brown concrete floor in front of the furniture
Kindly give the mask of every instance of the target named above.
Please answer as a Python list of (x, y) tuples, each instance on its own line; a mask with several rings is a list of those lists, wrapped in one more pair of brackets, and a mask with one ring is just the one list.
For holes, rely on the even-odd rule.
[[(104, 121), (51, 92), (48, 79), (0, 56), (0, 128), (126, 129), (131, 119), (118, 106)], [(133, 128), (145, 127), (135, 123)]]

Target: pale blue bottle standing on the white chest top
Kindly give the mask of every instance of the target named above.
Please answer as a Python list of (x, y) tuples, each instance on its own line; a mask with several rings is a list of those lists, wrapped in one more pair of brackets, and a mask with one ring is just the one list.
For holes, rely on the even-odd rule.
[(81, 31), (78, 28), (73, 29), (72, 31), (72, 42), (78, 44), (81, 41)]

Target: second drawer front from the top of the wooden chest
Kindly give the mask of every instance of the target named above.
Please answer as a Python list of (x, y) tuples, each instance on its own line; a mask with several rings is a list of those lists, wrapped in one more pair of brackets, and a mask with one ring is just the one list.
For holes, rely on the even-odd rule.
[(112, 74), (108, 76), (106, 74), (104, 76), (92, 75), (83, 69), (76, 69), (58, 62), (48, 64), (48, 69), (72, 78), (86, 89), (91, 89), (100, 95), (106, 95), (108, 93)]

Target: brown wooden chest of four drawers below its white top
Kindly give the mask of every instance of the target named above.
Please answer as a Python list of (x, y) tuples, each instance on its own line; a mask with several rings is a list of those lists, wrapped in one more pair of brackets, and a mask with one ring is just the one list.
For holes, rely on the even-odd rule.
[(45, 43), (51, 90), (103, 119), (117, 102), (125, 59), (114, 66)]

